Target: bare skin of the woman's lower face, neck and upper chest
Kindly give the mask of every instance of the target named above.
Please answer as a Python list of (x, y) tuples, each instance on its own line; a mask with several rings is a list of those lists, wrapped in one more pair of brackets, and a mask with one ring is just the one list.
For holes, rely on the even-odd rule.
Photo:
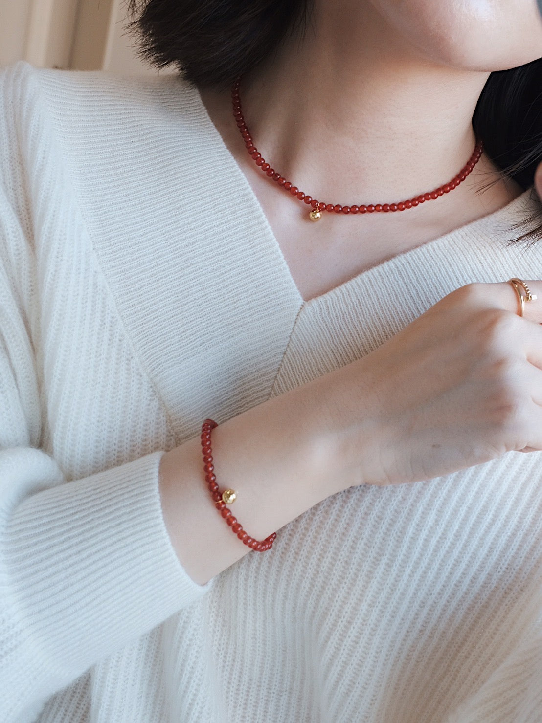
[[(540, 56), (535, 0), (315, 0), (305, 35), (242, 80), (242, 107), (266, 161), (313, 198), (393, 203), (452, 179), (473, 152), (471, 119), (489, 73)], [(521, 192), (483, 155), (436, 202), (312, 223), (247, 155), (229, 92), (202, 98), (306, 300)]]

